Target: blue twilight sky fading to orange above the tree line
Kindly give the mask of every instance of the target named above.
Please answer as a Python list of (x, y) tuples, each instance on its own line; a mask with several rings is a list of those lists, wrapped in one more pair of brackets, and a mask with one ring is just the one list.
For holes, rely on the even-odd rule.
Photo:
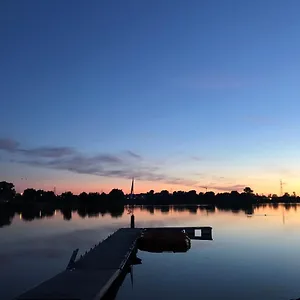
[(0, 181), (300, 194), (300, 2), (0, 2)]

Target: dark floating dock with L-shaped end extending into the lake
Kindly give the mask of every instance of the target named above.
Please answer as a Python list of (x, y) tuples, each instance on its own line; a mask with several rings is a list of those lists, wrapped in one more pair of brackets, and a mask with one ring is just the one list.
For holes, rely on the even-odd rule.
[[(121, 228), (76, 260), (76, 249), (66, 270), (25, 292), (16, 300), (100, 300), (123, 273), (136, 252), (143, 230), (185, 230), (191, 239), (212, 240), (211, 227)], [(201, 235), (197, 232), (201, 231)]]

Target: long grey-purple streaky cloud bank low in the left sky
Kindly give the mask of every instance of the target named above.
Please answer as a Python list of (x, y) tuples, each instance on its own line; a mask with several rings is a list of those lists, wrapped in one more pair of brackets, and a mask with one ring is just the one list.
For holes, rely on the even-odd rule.
[[(10, 139), (0, 140), (0, 150), (14, 152), (9, 161), (35, 167), (64, 170), (77, 174), (103, 177), (119, 177), (139, 180), (164, 182), (172, 185), (195, 187), (197, 181), (165, 174), (162, 166), (141, 161), (142, 157), (127, 150), (119, 155), (100, 153), (86, 155), (70, 147), (38, 147), (24, 149)], [(128, 158), (134, 158), (129, 159)]]

